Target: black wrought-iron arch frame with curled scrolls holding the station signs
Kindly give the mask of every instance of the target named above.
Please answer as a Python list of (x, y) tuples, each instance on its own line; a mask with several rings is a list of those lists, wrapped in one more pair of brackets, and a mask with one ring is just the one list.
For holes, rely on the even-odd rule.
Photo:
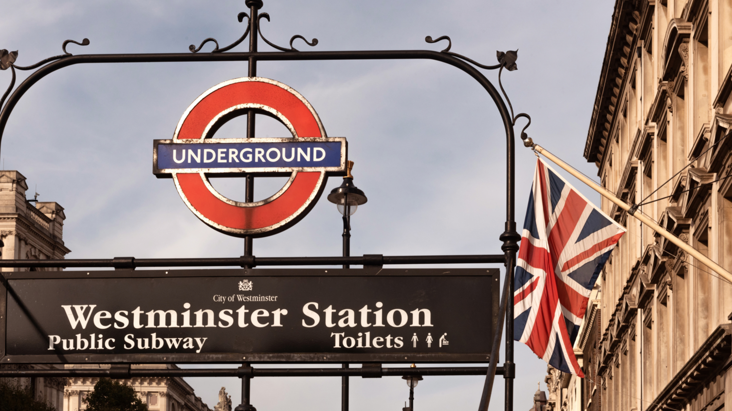
[[(516, 223), (515, 223), (515, 133), (513, 127), (515, 126), (516, 121), (518, 118), (526, 118), (528, 120), (528, 124), (526, 124), (525, 127), (523, 127), (523, 130), (521, 131), (520, 137), (525, 140), (528, 135), (526, 135), (526, 128), (529, 127), (529, 124), (531, 124), (531, 118), (526, 113), (519, 113), (518, 115), (514, 116), (513, 108), (511, 105), (511, 102), (504, 91), (504, 88), (501, 84), (501, 73), (503, 72), (503, 69), (506, 68), (509, 71), (515, 70), (516, 64), (515, 61), (518, 58), (518, 50), (516, 51), (508, 51), (506, 53), (498, 52), (498, 64), (493, 66), (486, 66), (483, 64), (479, 64), (476, 61), (472, 59), (468, 59), (466, 56), (461, 56), (460, 54), (453, 53), (450, 50), (452, 47), (452, 41), (447, 36), (438, 37), (437, 39), (432, 39), (432, 37), (426, 37), (425, 41), (434, 43), (439, 42), (443, 39), (447, 39), (449, 42), (449, 45), (447, 48), (445, 48), (442, 51), (433, 51), (433, 50), (354, 50), (354, 51), (299, 51), (296, 50), (293, 47), (293, 42), (295, 39), (303, 39), (307, 43), (307, 45), (314, 46), (318, 44), (318, 39), (313, 39), (311, 42), (307, 42), (307, 39), (305, 37), (295, 35), (290, 40), (290, 48), (282, 48), (280, 46), (272, 44), (272, 42), (269, 42), (267, 39), (264, 39), (264, 36), (261, 36), (261, 29), (259, 28), (259, 20), (261, 18), (266, 18), (266, 20), (269, 20), (269, 15), (266, 13), (258, 13), (258, 10), (262, 7), (262, 1), (261, 0), (247, 0), (246, 1), (247, 7), (250, 7), (250, 14), (247, 15), (247, 13), (239, 13), (239, 22), (242, 22), (244, 17), (247, 18), (247, 29), (244, 32), (244, 35), (242, 35), (241, 38), (237, 39), (234, 43), (231, 45), (226, 46), (225, 48), (219, 48), (218, 42), (216, 39), (209, 38), (204, 39), (203, 42), (201, 42), (201, 45), (198, 46), (198, 48), (195, 48), (195, 45), (190, 46), (191, 53), (135, 53), (135, 54), (81, 54), (81, 55), (72, 55), (66, 51), (66, 45), (70, 42), (73, 42), (78, 45), (89, 45), (89, 39), (83, 39), (83, 42), (75, 42), (73, 40), (67, 40), (64, 42), (63, 50), (64, 54), (59, 56), (54, 56), (42, 61), (39, 61), (37, 64), (33, 64), (28, 67), (20, 67), (15, 65), (15, 60), (17, 59), (18, 53), (17, 52), (7, 52), (7, 50), (0, 50), (0, 69), (8, 69), (10, 68), (12, 71), (12, 80), (10, 83), (10, 86), (7, 88), (7, 91), (0, 99), (0, 107), (2, 110), (0, 111), (0, 143), (2, 136), (4, 134), (5, 125), (7, 124), (8, 118), (10, 118), (10, 115), (12, 114), (12, 110), (15, 108), (15, 105), (18, 104), (18, 101), (23, 97), (24, 94), (26, 94), (26, 91), (31, 88), (31, 86), (34, 86), (35, 83), (40, 81), (42, 78), (44, 78), (46, 75), (51, 74), (52, 72), (55, 72), (56, 70), (62, 69), (64, 67), (69, 67), (75, 64), (94, 64), (94, 63), (151, 63), (151, 62), (194, 62), (194, 61), (249, 61), (249, 75), (250, 77), (256, 75), (256, 62), (257, 61), (326, 61), (326, 60), (410, 60), (410, 59), (427, 59), (427, 60), (434, 60), (434, 61), (441, 61), (442, 63), (449, 64), (453, 67), (456, 67), (463, 72), (466, 72), (468, 75), (470, 75), (474, 80), (476, 80), (482, 88), (485, 89), (485, 91), (488, 92), (490, 97), (493, 99), (493, 102), (496, 104), (496, 108), (498, 108), (498, 113), (501, 115), (501, 120), (503, 121), (504, 129), (506, 132), (506, 139), (507, 139), (507, 146), (506, 146), (506, 223), (505, 223), (505, 231), (504, 233), (501, 233), (500, 240), (503, 242), (503, 245), (501, 246), (501, 250), (504, 252), (503, 256), (454, 256), (458, 257), (457, 259), (453, 258), (451, 259), (451, 262), (453, 263), (474, 263), (475, 261), (487, 261), (490, 260), (493, 261), (502, 261), (504, 265), (506, 266), (506, 278), (504, 280), (504, 290), (503, 295), (501, 295), (501, 303), (500, 303), (500, 310), (498, 313), (498, 321), (496, 323), (496, 331), (494, 331), (494, 342), (492, 346), (492, 352), (490, 356), (490, 363), (488, 366), (488, 369), (486, 370), (486, 380), (485, 380), (485, 386), (482, 393), (482, 398), (480, 401), (480, 407), (479, 410), (488, 410), (488, 404), (490, 402), (490, 393), (493, 388), (493, 379), (496, 375), (496, 369), (498, 368), (498, 347), (501, 342), (501, 331), (503, 328), (502, 319), (505, 318), (506, 323), (506, 360), (504, 361), (504, 365), (501, 367), (499, 374), (503, 374), (504, 378), (506, 379), (506, 385), (505, 385), (505, 410), (506, 411), (512, 411), (513, 410), (513, 379), (515, 377), (515, 364), (513, 363), (513, 304), (509, 301), (509, 295), (512, 295), (513, 290), (513, 271), (515, 268), (515, 260), (516, 260), (516, 252), (518, 252), (518, 241), (520, 241), (520, 235), (516, 232)], [(258, 52), (257, 50), (257, 34), (264, 39), (264, 41), (271, 45), (273, 48), (276, 48), (277, 50), (281, 50), (279, 52)], [(250, 38), (250, 51), (247, 53), (223, 53), (226, 50), (230, 50), (231, 48), (236, 47), (236, 45), (239, 45), (244, 38), (247, 37), (247, 35)], [(206, 44), (206, 42), (214, 42), (216, 47), (209, 53), (199, 53), (203, 45)], [(23, 80), (20, 85), (18, 85), (17, 88), (15, 88), (14, 91), (12, 91), (13, 86), (15, 85), (15, 69), (20, 70), (29, 70), (29, 69), (35, 69), (37, 67), (40, 67), (35, 72), (33, 72), (31, 75), (29, 75), (28, 78)], [(488, 80), (488, 78), (485, 77), (485, 75), (482, 74), (482, 72), (479, 72), (477, 67), (482, 69), (498, 69), (498, 83), (501, 88), (501, 92), (503, 94), (503, 97), (506, 98), (504, 101), (504, 98), (501, 96), (501, 93), (499, 93), (498, 90), (493, 86), (493, 83)], [(12, 94), (10, 94), (10, 91), (12, 91)], [(3, 102), (8, 97), (8, 94), (10, 94), (10, 98), (7, 99), (7, 103), (3, 106)], [(508, 107), (506, 105), (508, 103)], [(509, 111), (510, 108), (510, 111)], [(254, 116), (250, 116), (250, 121), (248, 124), (247, 129), (249, 129), (252, 132), (253, 136), (253, 129), (254, 129)], [(247, 183), (247, 197), (249, 196), (250, 189), (248, 188), (250, 184)], [(253, 192), (253, 185), (252, 185), (252, 192)], [(249, 200), (247, 198), (247, 200)], [(248, 250), (248, 251), (247, 251)], [(245, 243), (245, 256), (243, 256), (241, 259), (231, 259), (231, 260), (245, 260), (246, 262), (250, 262), (247, 264), (247, 267), (250, 267), (254, 264), (255, 259), (251, 254), (251, 239), (247, 239), (247, 242)], [(365, 256), (366, 257), (366, 256)], [(417, 256), (414, 256), (415, 260), (419, 260)], [(441, 256), (441, 257), (447, 257), (447, 256)], [(486, 257), (502, 257), (500, 259), (492, 259), (492, 258), (486, 258)], [(337, 261), (338, 263), (341, 262), (341, 260), (344, 260), (345, 257), (325, 257), (327, 259), (332, 259), (332, 261)], [(349, 257), (351, 258), (351, 257)], [(357, 258), (357, 257), (353, 257)], [(403, 258), (402, 263), (411, 263), (412, 257), (401, 257)], [(422, 257), (424, 259), (425, 257)], [(115, 259), (117, 260), (117, 259)], [(134, 260), (134, 259), (132, 259)], [(188, 261), (190, 260), (190, 261)], [(209, 261), (210, 260), (210, 261)], [(176, 265), (180, 264), (182, 266), (194, 266), (194, 265), (203, 265), (206, 263), (209, 263), (210, 265), (220, 265), (220, 261), (217, 260), (223, 260), (223, 259), (176, 259), (175, 263)], [(230, 259), (227, 259), (230, 260)], [(280, 265), (280, 263), (285, 263), (285, 260), (281, 259), (280, 257), (272, 258), (272, 265)], [(282, 260), (282, 261), (279, 261)], [(290, 263), (298, 263), (302, 265), (307, 264), (323, 264), (324, 260), (323, 258), (320, 259), (311, 259), (307, 260), (305, 258), (291, 258)], [(428, 260), (428, 258), (427, 258)], [(436, 261), (442, 261), (445, 260), (444, 258), (436, 259)], [(454, 261), (453, 261), (454, 260)], [(75, 266), (87, 266), (84, 265), (84, 261), (97, 261), (97, 260), (77, 260), (78, 265), (75, 264)], [(173, 260), (170, 260), (171, 263)], [(422, 261), (422, 260), (419, 260)], [(432, 262), (432, 261), (430, 261)], [(35, 260), (0, 260), (0, 267), (34, 267), (34, 266), (40, 266), (40, 261)], [(46, 267), (67, 267), (70, 261), (68, 260), (43, 260), (42, 265)], [(384, 263), (387, 263), (384, 261)], [(93, 266), (89, 265), (89, 266)], [(96, 265), (100, 266), (100, 265)], [(113, 265), (116, 266), (116, 265)], [(346, 369), (347, 370), (347, 369)], [(152, 371), (152, 370), (151, 370)], [(357, 374), (358, 372), (345, 372), (346, 374), (343, 374), (343, 369), (341, 370), (340, 375), (346, 375), (346, 374)], [(335, 372), (335, 371), (334, 371)], [(482, 370), (481, 370), (482, 372)], [(3, 374), (3, 372), (0, 372), (0, 374)], [(28, 374), (28, 372), (26, 372)], [(317, 374), (317, 373), (315, 373)], [(474, 372), (472, 372), (474, 374)], [(30, 375), (30, 374), (28, 374)], [(40, 375), (40, 374), (39, 374)], [(334, 374), (335, 375), (335, 374)], [(10, 374), (8, 374), (10, 376)], [(237, 407), (237, 410), (239, 410), (240, 407), (242, 407), (242, 410), (251, 410), (253, 407), (248, 404), (248, 385), (249, 385), (249, 378), (253, 375), (247, 376), (242, 374), (242, 389), (246, 392), (246, 396), (244, 396), (244, 393), (242, 393), (242, 407)], [(250, 408), (247, 408), (250, 407)]]

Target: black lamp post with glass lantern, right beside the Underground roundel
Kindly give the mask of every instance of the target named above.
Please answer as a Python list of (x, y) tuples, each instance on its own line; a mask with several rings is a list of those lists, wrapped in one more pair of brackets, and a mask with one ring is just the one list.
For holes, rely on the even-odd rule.
[[(351, 215), (356, 212), (356, 208), (365, 204), (367, 201), (364, 192), (354, 186), (354, 176), (351, 170), (354, 168), (354, 162), (348, 161), (346, 164), (346, 177), (343, 177), (343, 184), (332, 189), (328, 195), (328, 201), (334, 203), (338, 207), (338, 212), (343, 215), (343, 257), (351, 255)], [(351, 268), (348, 264), (343, 264), (343, 268)], [(343, 369), (348, 368), (348, 363), (343, 363)], [(340, 410), (348, 411), (348, 376), (340, 377)]]

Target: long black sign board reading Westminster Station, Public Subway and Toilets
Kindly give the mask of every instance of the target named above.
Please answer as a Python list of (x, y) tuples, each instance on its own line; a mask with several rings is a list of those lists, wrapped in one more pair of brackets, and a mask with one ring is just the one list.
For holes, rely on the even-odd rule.
[(5, 272), (2, 363), (486, 362), (498, 269)]

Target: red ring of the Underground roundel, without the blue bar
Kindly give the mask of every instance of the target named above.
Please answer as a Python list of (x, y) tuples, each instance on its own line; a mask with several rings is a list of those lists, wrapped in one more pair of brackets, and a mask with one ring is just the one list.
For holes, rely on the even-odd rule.
[[(294, 138), (327, 137), (318, 114), (297, 91), (267, 78), (237, 78), (209, 88), (185, 111), (173, 140), (203, 142), (209, 129), (232, 110), (256, 108), (280, 119)], [(207, 225), (229, 235), (264, 237), (294, 225), (315, 205), (325, 171), (294, 172), (275, 195), (240, 203), (220, 195), (203, 173), (173, 173), (184, 203)]]

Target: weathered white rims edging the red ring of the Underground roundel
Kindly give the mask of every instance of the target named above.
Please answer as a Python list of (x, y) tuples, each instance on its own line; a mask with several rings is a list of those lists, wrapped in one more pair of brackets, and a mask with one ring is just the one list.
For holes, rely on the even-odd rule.
[[(234, 78), (232, 80), (228, 80), (228, 81), (224, 81), (223, 83), (219, 83), (216, 86), (213, 86), (212, 88), (209, 88), (208, 90), (204, 91), (203, 94), (198, 96), (198, 98), (195, 99), (193, 101), (193, 103), (191, 103), (190, 106), (188, 106), (188, 108), (184, 111), (183, 116), (181, 117), (180, 121), (178, 121), (178, 126), (176, 127), (176, 131), (175, 131), (175, 133), (173, 133), (173, 143), (185, 144), (184, 141), (186, 141), (186, 142), (195, 141), (197, 143), (202, 143), (206, 137), (208, 137), (208, 138), (212, 137), (212, 136), (206, 136), (206, 135), (208, 134), (211, 127), (216, 123), (216, 121), (218, 121), (219, 118), (221, 118), (222, 116), (225, 116), (228, 113), (231, 113), (231, 111), (241, 110), (243, 108), (257, 108), (259, 110), (264, 110), (266, 112), (272, 113), (272, 116), (275, 116), (277, 119), (279, 119), (285, 125), (285, 127), (287, 127), (290, 130), (290, 133), (292, 134), (292, 137), (294, 139), (307, 140), (307, 137), (303, 137), (303, 138), (298, 137), (294, 127), (292, 126), (290, 121), (285, 116), (283, 116), (282, 113), (280, 113), (279, 111), (277, 111), (274, 108), (271, 108), (269, 106), (256, 104), (256, 103), (235, 105), (233, 107), (227, 108), (226, 110), (223, 110), (221, 113), (218, 113), (217, 116), (214, 116), (214, 118), (212, 118), (212, 120), (209, 121), (209, 124), (206, 126), (206, 129), (203, 130), (203, 134), (201, 135), (201, 137), (199, 137), (196, 140), (193, 140), (193, 139), (179, 140), (178, 139), (178, 133), (180, 132), (180, 129), (183, 126), (185, 119), (188, 117), (188, 115), (193, 110), (193, 108), (195, 108), (195, 106), (198, 105), (199, 102), (201, 102), (201, 100), (203, 100), (206, 96), (213, 93), (214, 91), (217, 91), (219, 88), (223, 88), (225, 86), (228, 86), (228, 85), (234, 84), (234, 83), (242, 83), (244, 81), (258, 81), (260, 83), (269, 83), (274, 86), (283, 88), (285, 91), (288, 91), (290, 94), (293, 94), (295, 97), (300, 99), (300, 101), (308, 108), (308, 110), (310, 110), (310, 113), (313, 114), (315, 121), (318, 123), (318, 128), (320, 129), (321, 137), (328, 137), (328, 135), (326, 135), (325, 128), (323, 127), (323, 123), (321, 122), (321, 119), (318, 116), (318, 113), (315, 112), (315, 109), (313, 108), (312, 105), (310, 105), (310, 102), (308, 102), (305, 99), (305, 97), (302, 97), (302, 94), (299, 94), (297, 91), (295, 91), (294, 88), (291, 88), (290, 86), (287, 86), (286, 84), (280, 83), (277, 80), (272, 80), (269, 78), (243, 77), (243, 78)], [(292, 175), (290, 176), (288, 181), (285, 183), (285, 185), (280, 189), (280, 191), (276, 192), (274, 195), (272, 195), (270, 197), (267, 197), (264, 200), (257, 201), (255, 203), (242, 203), (242, 202), (231, 200), (230, 198), (224, 197), (219, 192), (217, 192), (216, 189), (214, 189), (214, 187), (211, 185), (211, 182), (209, 181), (209, 178), (206, 177), (204, 173), (199, 173), (199, 174), (201, 175), (201, 178), (203, 179), (203, 184), (205, 184), (206, 188), (209, 189), (209, 192), (211, 192), (214, 196), (216, 196), (223, 202), (231, 204), (232, 206), (237, 206), (237, 207), (258, 207), (258, 206), (263, 206), (266, 203), (271, 203), (273, 200), (277, 199), (277, 197), (280, 197), (280, 195), (283, 195), (283, 193), (288, 188), (290, 188), (292, 182), (294, 181), (295, 177), (297, 176), (297, 173), (298, 173), (297, 171), (294, 171), (292, 173)], [(206, 216), (203, 216), (203, 214), (201, 214), (198, 210), (196, 210), (191, 205), (191, 203), (188, 201), (186, 195), (183, 193), (183, 190), (181, 189), (181, 186), (178, 182), (178, 176), (177, 176), (178, 173), (173, 172), (172, 174), (173, 174), (173, 181), (175, 182), (176, 189), (178, 190), (178, 194), (181, 196), (185, 205), (190, 209), (190, 211), (193, 211), (193, 214), (195, 214), (195, 216), (197, 216), (198, 219), (201, 219), (201, 221), (205, 222), (207, 225), (213, 227), (215, 230), (218, 230), (222, 233), (241, 236), (241, 237), (244, 237), (247, 235), (255, 235), (258, 237), (264, 237), (266, 235), (272, 235), (272, 234), (280, 232), (281, 230), (277, 230), (278, 228), (281, 228), (282, 230), (284, 230), (286, 227), (283, 227), (283, 226), (288, 225), (289, 222), (292, 222), (295, 219), (298, 219), (298, 216), (301, 216), (303, 211), (307, 210), (307, 208), (310, 208), (311, 206), (314, 206), (313, 200), (315, 200), (317, 197), (320, 197), (320, 195), (323, 191), (324, 184), (326, 182), (326, 173), (325, 173), (325, 171), (321, 171), (320, 178), (318, 178), (318, 183), (315, 185), (315, 189), (310, 194), (310, 197), (307, 197), (307, 200), (305, 201), (305, 203), (303, 203), (303, 205), (300, 208), (298, 208), (297, 211), (294, 212), (294, 214), (292, 214), (291, 216), (288, 216), (288, 218), (283, 219), (282, 221), (278, 222), (277, 224), (270, 225), (268, 227), (257, 228), (255, 230), (242, 230), (239, 228), (225, 227), (223, 225), (217, 224), (216, 222), (212, 222), (210, 219), (206, 218)]]

